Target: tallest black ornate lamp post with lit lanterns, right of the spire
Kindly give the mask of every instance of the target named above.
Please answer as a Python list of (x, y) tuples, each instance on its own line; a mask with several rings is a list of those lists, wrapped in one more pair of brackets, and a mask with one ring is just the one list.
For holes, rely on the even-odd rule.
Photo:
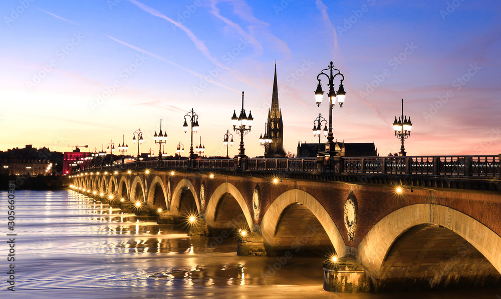
[[(330, 70), (330, 75), (326, 74), (324, 70)], [(333, 73), (333, 70), (336, 70), (337, 72)], [(334, 152), (335, 151), (334, 141), (333, 141), (334, 135), (332, 133), (332, 107), (336, 104), (336, 98), (338, 100), (339, 107), (343, 106), (346, 95), (346, 92), (343, 87), (344, 75), (341, 73), (339, 69), (334, 68), (332, 61), (327, 68), (322, 69), (322, 71), (317, 75), (318, 85), (317, 85), (317, 90), (315, 90), (315, 102), (317, 103), (318, 107), (320, 107), (320, 104), (322, 103), (322, 97), (324, 96), (324, 91), (322, 90), (322, 85), (320, 84), (320, 75), (322, 74), (326, 75), (327, 78), (329, 79), (329, 83), (327, 84), (329, 86), (329, 93), (327, 93), (327, 96), (329, 97), (329, 133), (327, 136), (327, 144), (325, 151), (329, 153), (329, 156), (333, 156), (336, 153)], [(339, 83), (339, 89), (336, 94), (336, 91), (334, 90), (334, 78), (338, 75), (341, 76), (341, 81)]]

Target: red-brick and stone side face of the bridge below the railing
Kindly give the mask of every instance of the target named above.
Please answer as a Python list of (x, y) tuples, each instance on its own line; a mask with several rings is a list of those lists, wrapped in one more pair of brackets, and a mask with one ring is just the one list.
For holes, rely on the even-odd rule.
[[(295, 237), (301, 237), (305, 233), (305, 227), (312, 224), (320, 225), (322, 229), (311, 240), (311, 243), (315, 244), (311, 248), (326, 246), (329, 244), (327, 241), (329, 239), (331, 249), (334, 245), (338, 254), (356, 256), (372, 277), (371, 279), (374, 279), (375, 285), (379, 285), (382, 289), (384, 285), (394, 280), (396, 273), (399, 275), (403, 273), (404, 266), (400, 263), (405, 260), (405, 254), (411, 254), (410, 251), (400, 250), (402, 255), (393, 256), (392, 254), (396, 252), (396, 249), (392, 247), (394, 240), (402, 233), (406, 235), (405, 231), (409, 228), (411, 230), (408, 233), (411, 235), (412, 229), (417, 229), (413, 226), (419, 227), (416, 225), (422, 223), (440, 224), (445, 227), (443, 229), (448, 229), (450, 234), (464, 238), (478, 251), (468, 251), (471, 256), (470, 261), (483, 264), (477, 254), (481, 253), (493, 265), (497, 273), (501, 271), (501, 238), (499, 237), (501, 235), (501, 216), (499, 216), (501, 195), (499, 192), (418, 186), (414, 186), (411, 192), (410, 187), (407, 186), (403, 192), (397, 193), (396, 185), (390, 184), (292, 180), (284, 177), (278, 183), (274, 183), (272, 177), (253, 177), (238, 173), (235, 175), (216, 173), (213, 178), (208, 172), (176, 172), (175, 175), (170, 175), (169, 172), (163, 171), (116, 176), (109, 175), (108, 177), (113, 177), (114, 183), (118, 181), (119, 193), (123, 194), (125, 190), (131, 199), (142, 198), (151, 192), (149, 185), (143, 186), (145, 178), (148, 179), (148, 184), (151, 184), (154, 177), (158, 176), (158, 180), (163, 182), (163, 188), (166, 188), (166, 182), (170, 180), (171, 198), (168, 200), (171, 201), (172, 213), (179, 216), (187, 210), (197, 210), (205, 216), (209, 227), (210, 225), (217, 226), (218, 223), (229, 218), (242, 218), (243, 215), (248, 228), (262, 234), (265, 245), (269, 249), (275, 248), (270, 252), (283, 251), (286, 247), (290, 247)], [(85, 181), (88, 181), (89, 188), (98, 187), (102, 190), (112, 188), (102, 174), (95, 179)], [(205, 185), (203, 207), (198, 199), (202, 183)], [(83, 179), (80, 184), (84, 184)], [(254, 215), (252, 196), (258, 184), (261, 191), (261, 206), (259, 215)], [(221, 189), (222, 185), (224, 185), (224, 190)], [(189, 191), (186, 191), (186, 186), (190, 186)], [(161, 200), (161, 196), (157, 195), (159, 189), (155, 187), (153, 190), (152, 201), (148, 202), (152, 206)], [(186, 193), (181, 194), (184, 192), (182, 190)], [(355, 238), (350, 240), (344, 223), (343, 211), (346, 199), (352, 192), (357, 198), (358, 215)], [(162, 195), (167, 197), (165, 194)], [(276, 204), (277, 200), (281, 200), (281, 203)], [(301, 202), (304, 206), (297, 207), (294, 202)], [(423, 231), (434, 231), (430, 229)], [(413, 235), (422, 239), (428, 237), (429, 241), (424, 243), (434, 248), (423, 247), (419, 254), (434, 258), (441, 257), (443, 262), (444, 259), (447, 260), (447, 254), (450, 255), (447, 250), (452, 250), (451, 248), (458, 245), (458, 240), (452, 240), (446, 233), (431, 232), (429, 234), (416, 232)], [(433, 241), (434, 235), (438, 238), (442, 237), (443, 240)], [(402, 241), (402, 244), (411, 244), (410, 239)], [(399, 242), (395, 242), (395, 246), (397, 245)], [(441, 252), (441, 255), (438, 252)], [(424, 259), (416, 260), (424, 262)], [(388, 266), (387, 261), (393, 262), (392, 266)], [(460, 264), (463, 265), (463, 269), (455, 266), (456, 272), (463, 273), (464, 277), (475, 277), (476, 274), (470, 276), (465, 274), (468, 267), (473, 268), (470, 271), (476, 271), (474, 266), (469, 265), (471, 262), (464, 261)], [(433, 268), (426, 268), (425, 265), (420, 269), (415, 265), (409, 265), (407, 268), (409, 272), (405, 275), (409, 277), (419, 276), (420, 274), (417, 274), (419, 271), (433, 271)], [(394, 273), (391, 274), (393, 271)], [(489, 276), (489, 271), (486, 271), (485, 275)], [(421, 280), (426, 281), (426, 277)], [(450, 282), (440, 282), (445, 281), (442, 279), (435, 280), (437, 286), (450, 284)], [(453, 279), (449, 278), (449, 280)], [(474, 281), (474, 278), (469, 280)], [(387, 282), (383, 283), (383, 281)], [(476, 284), (473, 283), (473, 285)]]

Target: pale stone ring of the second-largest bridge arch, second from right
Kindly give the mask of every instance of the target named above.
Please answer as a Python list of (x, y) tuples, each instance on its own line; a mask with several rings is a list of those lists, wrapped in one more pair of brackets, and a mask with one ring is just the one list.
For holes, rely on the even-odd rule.
[(283, 212), (294, 203), (305, 205), (318, 219), (338, 256), (347, 255), (349, 250), (327, 210), (310, 193), (300, 189), (292, 189), (280, 194), (266, 210), (260, 224), (261, 235), (265, 244), (273, 243), (275, 232)]

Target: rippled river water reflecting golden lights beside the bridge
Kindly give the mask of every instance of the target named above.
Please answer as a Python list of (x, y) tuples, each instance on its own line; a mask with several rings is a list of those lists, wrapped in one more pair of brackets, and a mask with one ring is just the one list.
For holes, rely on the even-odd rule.
[[(1, 191), (7, 230), (7, 191)], [(501, 289), (341, 294), (322, 289), (323, 258), (236, 255), (226, 238), (188, 237), (182, 227), (122, 214), (74, 191), (24, 191), (15, 198), (15, 261), (3, 234), (2, 298), (491, 298)], [(216, 245), (214, 245), (216, 244)], [(7, 290), (15, 264), (15, 291)]]

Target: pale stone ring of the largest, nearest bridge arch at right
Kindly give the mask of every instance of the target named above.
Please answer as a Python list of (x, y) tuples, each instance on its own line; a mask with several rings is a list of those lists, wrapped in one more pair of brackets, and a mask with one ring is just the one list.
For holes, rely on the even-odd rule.
[(501, 246), (499, 235), (465, 213), (429, 203), (402, 207), (377, 222), (360, 242), (357, 258), (369, 276), (379, 280), (385, 260), (396, 241), (405, 233), (433, 226), (446, 228), (469, 242), (501, 273), (501, 252), (497, 249)]

